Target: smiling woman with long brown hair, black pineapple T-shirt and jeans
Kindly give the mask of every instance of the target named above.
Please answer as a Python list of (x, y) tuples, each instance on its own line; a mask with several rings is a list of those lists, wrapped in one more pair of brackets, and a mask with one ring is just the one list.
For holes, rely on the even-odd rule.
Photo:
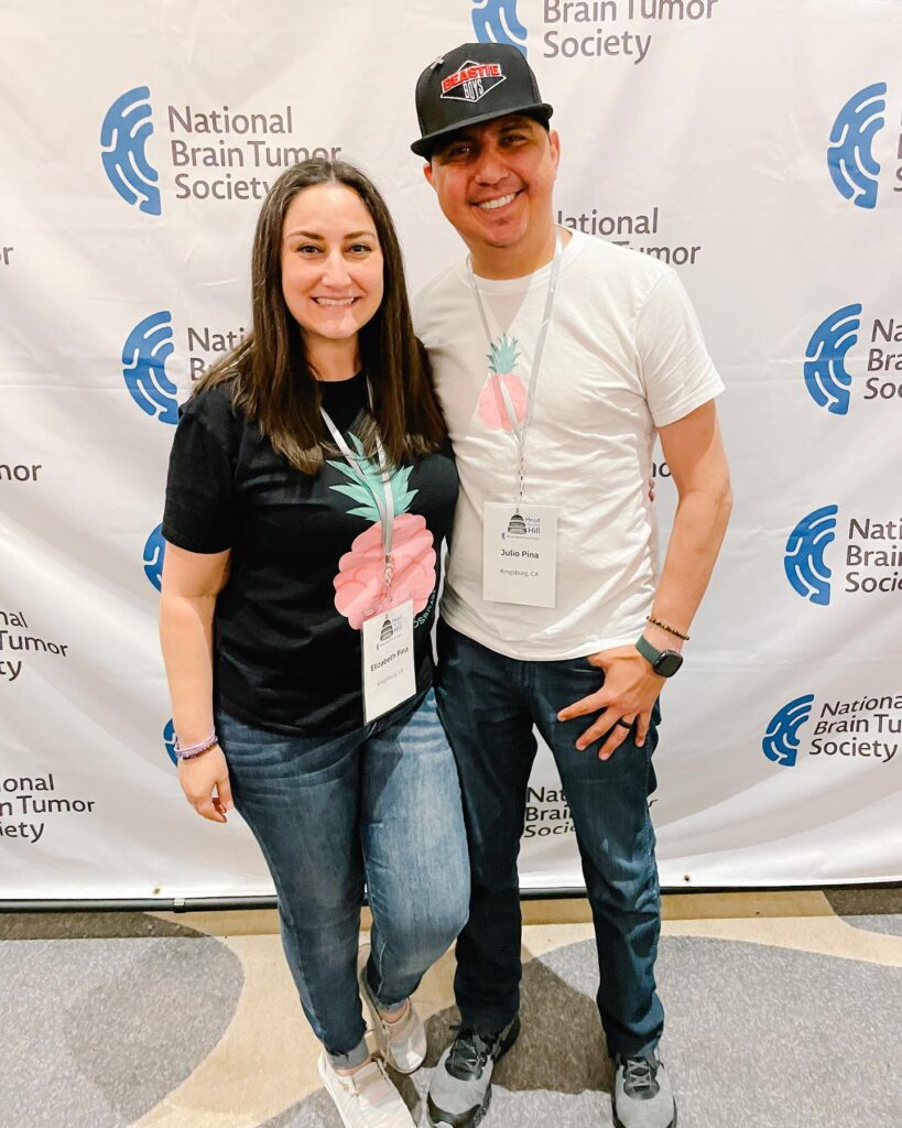
[(398, 239), (357, 169), (280, 177), (251, 275), (253, 333), (198, 382), (169, 466), (160, 637), (179, 782), (204, 818), (233, 802), (263, 849), (344, 1123), (409, 1128), (359, 988), (381, 1058), (416, 1069), (409, 995), (469, 898), (431, 689), (457, 475)]

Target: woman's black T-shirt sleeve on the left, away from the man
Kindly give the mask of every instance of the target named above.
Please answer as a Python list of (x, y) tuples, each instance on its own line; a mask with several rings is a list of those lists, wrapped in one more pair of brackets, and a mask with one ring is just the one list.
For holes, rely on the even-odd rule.
[(170, 544), (193, 553), (231, 548), (237, 422), (231, 404), (215, 390), (179, 408), (162, 519)]

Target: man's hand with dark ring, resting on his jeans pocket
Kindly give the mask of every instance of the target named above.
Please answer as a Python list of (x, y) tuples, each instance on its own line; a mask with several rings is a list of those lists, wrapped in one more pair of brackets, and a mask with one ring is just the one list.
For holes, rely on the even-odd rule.
[(604, 685), (598, 693), (582, 697), (558, 715), (558, 721), (598, 713), (595, 721), (576, 741), (582, 751), (600, 740), (608, 739), (599, 749), (599, 759), (607, 760), (622, 744), (636, 724), (636, 744), (642, 747), (648, 735), (652, 708), (665, 678), (658, 677), (635, 646), (616, 646), (590, 654), (586, 661), (604, 671)]

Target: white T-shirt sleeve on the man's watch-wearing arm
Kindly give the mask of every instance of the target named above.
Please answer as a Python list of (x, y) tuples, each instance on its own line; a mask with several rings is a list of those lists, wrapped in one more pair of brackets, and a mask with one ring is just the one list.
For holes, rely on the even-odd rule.
[(724, 390), (676, 273), (655, 283), (636, 326), (639, 365), (656, 428), (675, 423)]

